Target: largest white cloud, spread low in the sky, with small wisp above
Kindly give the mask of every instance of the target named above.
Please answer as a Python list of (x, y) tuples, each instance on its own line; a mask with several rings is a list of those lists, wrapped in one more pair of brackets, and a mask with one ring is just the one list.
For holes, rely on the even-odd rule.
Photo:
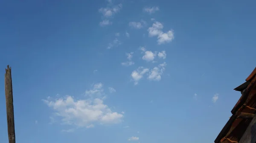
[[(101, 85), (96, 84), (93, 87), (100, 88)], [(67, 95), (56, 99), (48, 97), (43, 101), (54, 110), (55, 118), (61, 124), (91, 128), (94, 123), (120, 123), (123, 118), (123, 114), (113, 112), (101, 98), (75, 99)]]

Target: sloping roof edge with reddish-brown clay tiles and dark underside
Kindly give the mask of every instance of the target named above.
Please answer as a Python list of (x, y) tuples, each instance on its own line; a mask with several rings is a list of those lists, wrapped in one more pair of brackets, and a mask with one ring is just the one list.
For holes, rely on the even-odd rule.
[(233, 107), (231, 111), (233, 115), (215, 139), (215, 143), (238, 143), (252, 120), (252, 118), (245, 118), (241, 115), (254, 116), (256, 114), (256, 68), (248, 76), (246, 82), (236, 87), (235, 90), (244, 92)]

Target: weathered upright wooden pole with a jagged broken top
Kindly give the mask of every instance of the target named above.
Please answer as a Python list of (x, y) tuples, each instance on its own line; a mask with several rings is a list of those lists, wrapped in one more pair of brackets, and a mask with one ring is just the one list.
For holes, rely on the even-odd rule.
[(12, 97), (12, 75), (11, 68), (7, 65), (5, 74), (5, 93), (6, 93), (6, 114), (9, 143), (15, 143), (15, 128), (14, 128), (14, 110)]

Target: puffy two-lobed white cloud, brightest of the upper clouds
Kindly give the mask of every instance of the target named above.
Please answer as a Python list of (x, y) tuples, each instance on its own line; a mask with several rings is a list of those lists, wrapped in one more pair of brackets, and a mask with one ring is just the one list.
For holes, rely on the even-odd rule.
[(163, 24), (160, 22), (154, 22), (152, 27), (148, 28), (148, 36), (153, 37), (157, 36), (157, 43), (159, 45), (171, 42), (174, 39), (174, 33), (172, 30), (164, 33)]

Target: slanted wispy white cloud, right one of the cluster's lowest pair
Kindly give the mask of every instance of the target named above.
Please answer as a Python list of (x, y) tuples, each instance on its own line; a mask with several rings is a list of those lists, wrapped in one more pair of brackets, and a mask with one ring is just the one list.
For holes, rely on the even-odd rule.
[(150, 72), (148, 79), (154, 80), (154, 81), (160, 81), (161, 75), (163, 74), (166, 67), (166, 62), (163, 62), (163, 64), (159, 64), (157, 67), (154, 67)]

